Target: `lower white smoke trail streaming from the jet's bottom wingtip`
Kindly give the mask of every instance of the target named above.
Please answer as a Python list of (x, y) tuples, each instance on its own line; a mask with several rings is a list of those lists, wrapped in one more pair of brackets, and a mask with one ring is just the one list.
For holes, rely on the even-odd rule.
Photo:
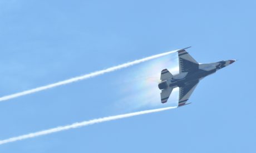
[(92, 124), (96, 124), (96, 123), (102, 123), (102, 122), (105, 122), (105, 121), (129, 118), (131, 116), (155, 113), (155, 112), (174, 109), (174, 108), (177, 108), (177, 107), (168, 107), (168, 108), (144, 110), (144, 111), (138, 111), (138, 112), (135, 112), (135, 113), (122, 114), (122, 115), (116, 115), (116, 116), (109, 116), (109, 117), (105, 117), (105, 118), (93, 119), (93, 120), (89, 120), (89, 121), (83, 121), (83, 122), (80, 122), (80, 123), (74, 123), (74, 124), (66, 125), (66, 126), (59, 126), (59, 127), (53, 128), (53, 129), (43, 130), (43, 131), (31, 133), (31, 134), (12, 137), (12, 138), (6, 139), (6, 140), (1, 140), (0, 145), (7, 144), (9, 142), (29, 139), (29, 138), (33, 138), (33, 137), (37, 137), (37, 136), (48, 135), (48, 134), (52, 134), (54, 132), (60, 132), (60, 131), (64, 131), (64, 130), (75, 129), (75, 128), (82, 127), (82, 126), (92, 125)]

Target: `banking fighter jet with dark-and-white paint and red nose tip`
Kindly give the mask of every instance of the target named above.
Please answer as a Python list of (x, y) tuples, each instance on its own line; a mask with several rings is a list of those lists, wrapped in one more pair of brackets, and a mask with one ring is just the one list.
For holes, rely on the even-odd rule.
[[(188, 47), (190, 48), (190, 47)], [(179, 87), (179, 104), (178, 106), (188, 105), (186, 103), (198, 85), (199, 81), (204, 77), (215, 73), (217, 70), (227, 67), (236, 60), (222, 60), (216, 63), (199, 64), (192, 58), (186, 49), (178, 50), (179, 54), (179, 69), (177, 75), (173, 75), (168, 69), (161, 71), (161, 83), (158, 87), (161, 90), (161, 102), (166, 103), (169, 99), (171, 91)]]

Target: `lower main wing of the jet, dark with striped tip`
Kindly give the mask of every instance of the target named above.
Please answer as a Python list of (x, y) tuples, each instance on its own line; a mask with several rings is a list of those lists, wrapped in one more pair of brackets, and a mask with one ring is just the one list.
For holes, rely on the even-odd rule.
[(185, 83), (184, 86), (180, 87), (179, 106), (183, 106), (186, 104), (186, 101), (189, 100), (189, 97), (195, 90), (196, 85), (198, 85), (198, 83), (199, 83), (199, 80), (190, 81), (188, 83)]

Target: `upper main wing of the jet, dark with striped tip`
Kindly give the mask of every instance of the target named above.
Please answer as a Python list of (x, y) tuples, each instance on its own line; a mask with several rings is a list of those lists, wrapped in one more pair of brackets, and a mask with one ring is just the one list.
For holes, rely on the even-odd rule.
[(196, 60), (189, 55), (188, 52), (186, 52), (185, 49), (178, 50), (179, 53), (179, 67), (180, 67), (180, 73), (183, 72), (194, 72), (195, 70), (198, 70), (199, 63), (196, 62)]

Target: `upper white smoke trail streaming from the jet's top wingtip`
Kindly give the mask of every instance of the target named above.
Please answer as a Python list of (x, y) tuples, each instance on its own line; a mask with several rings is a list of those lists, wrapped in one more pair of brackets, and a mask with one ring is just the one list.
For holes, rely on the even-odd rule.
[(9, 99), (17, 98), (19, 96), (36, 93), (38, 91), (54, 88), (54, 87), (60, 86), (60, 85), (65, 85), (65, 84), (73, 83), (73, 82), (76, 82), (76, 81), (79, 81), (79, 80), (85, 80), (85, 79), (88, 79), (88, 78), (96, 77), (97, 75), (102, 75), (102, 74), (113, 72), (115, 70), (119, 70), (119, 69), (122, 69), (122, 68), (127, 68), (127, 67), (130, 67), (130, 66), (135, 65), (135, 64), (146, 62), (147, 60), (163, 57), (165, 55), (168, 55), (168, 54), (171, 54), (171, 53), (175, 53), (176, 51), (177, 50), (174, 50), (174, 51), (171, 51), (171, 52), (162, 53), (162, 54), (152, 55), (151, 57), (134, 60), (133, 62), (117, 65), (115, 67), (110, 67), (110, 68), (107, 68), (107, 69), (104, 69), (104, 70), (99, 70), (97, 72), (85, 74), (85, 75), (82, 75), (80, 77), (75, 77), (75, 78), (71, 78), (71, 79), (68, 79), (68, 80), (59, 81), (57, 83), (41, 86), (41, 87), (38, 87), (38, 88), (35, 88), (35, 89), (22, 91), (20, 93), (3, 96), (3, 97), (0, 98), (0, 101), (9, 100)]

